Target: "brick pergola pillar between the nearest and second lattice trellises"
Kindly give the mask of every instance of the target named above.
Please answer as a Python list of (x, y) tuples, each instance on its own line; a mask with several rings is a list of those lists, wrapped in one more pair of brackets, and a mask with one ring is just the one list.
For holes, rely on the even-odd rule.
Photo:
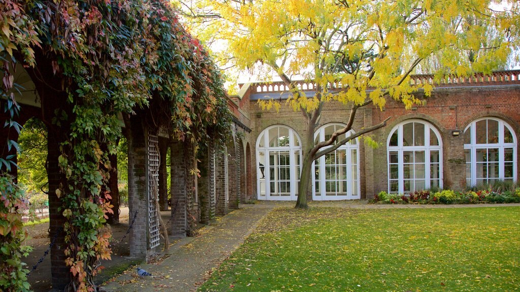
[(172, 230), (173, 236), (186, 236), (186, 166), (184, 161), (185, 147), (183, 142), (172, 141), (171, 151), (171, 194), (172, 194)]

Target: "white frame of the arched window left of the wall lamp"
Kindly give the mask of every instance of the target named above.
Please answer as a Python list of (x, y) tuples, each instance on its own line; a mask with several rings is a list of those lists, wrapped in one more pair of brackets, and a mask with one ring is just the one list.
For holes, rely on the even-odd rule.
[[(424, 146), (404, 146), (403, 145), (403, 130), (402, 127), (408, 123), (420, 123), (424, 125)], [(437, 136), (438, 145), (430, 145), (430, 129), (433, 130), (434, 134)], [(392, 135), (394, 135), (395, 131), (398, 131), (398, 141), (397, 146), (390, 146), (390, 139)], [(404, 179), (404, 152), (405, 151), (424, 151), (424, 189), (431, 188), (431, 162), (430, 162), (430, 153), (432, 151), (439, 152), (439, 188), (443, 188), (443, 140), (440, 136), (440, 132), (437, 128), (424, 120), (419, 119), (410, 119), (402, 121), (397, 124), (388, 135), (386, 139), (386, 161), (387, 161), (387, 183), (388, 183), (388, 193), (396, 193), (395, 191), (391, 191), (391, 171), (390, 171), (390, 152), (398, 153), (398, 191), (397, 193), (404, 194), (405, 193), (405, 179)], [(415, 185), (414, 185), (414, 191)], [(409, 192), (409, 191), (407, 191)], [(413, 191), (410, 191), (413, 192)]]

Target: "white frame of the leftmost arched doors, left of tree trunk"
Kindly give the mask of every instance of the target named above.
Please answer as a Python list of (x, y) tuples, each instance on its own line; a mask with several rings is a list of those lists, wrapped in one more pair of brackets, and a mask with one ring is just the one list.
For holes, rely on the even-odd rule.
[[(269, 130), (272, 128), (287, 128), (289, 130), (289, 146), (283, 147), (269, 147)], [(295, 138), (297, 141), (295, 141)], [(264, 146), (260, 147), (260, 142), (263, 140)], [(297, 145), (296, 145), (297, 142)], [(280, 196), (280, 195), (271, 195), (270, 190), (270, 161), (269, 154), (271, 152), (289, 152), (289, 164), (290, 164), (290, 195), (288, 196)], [(265, 178), (261, 178), (262, 171), (260, 170), (260, 153), (264, 153), (265, 163), (264, 163), (264, 176)], [(257, 198), (258, 200), (269, 200), (269, 201), (296, 201), (297, 194), (296, 188), (297, 183), (300, 181), (300, 178), (296, 177), (296, 167), (295, 167), (295, 153), (298, 153), (300, 156), (300, 172), (302, 169), (302, 141), (298, 136), (297, 132), (285, 125), (272, 125), (265, 128), (258, 138), (256, 139), (256, 188), (257, 188)], [(276, 173), (276, 172), (275, 172)], [(279, 181), (275, 181), (275, 183), (279, 183)], [(262, 195), (262, 185), (265, 185), (265, 195)]]

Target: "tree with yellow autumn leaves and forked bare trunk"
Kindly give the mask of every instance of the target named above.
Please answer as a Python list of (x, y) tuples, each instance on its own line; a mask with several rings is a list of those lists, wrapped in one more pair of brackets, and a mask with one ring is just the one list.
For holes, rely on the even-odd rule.
[[(308, 143), (296, 208), (307, 208), (314, 160), (385, 126), (386, 121), (338, 141), (352, 128), (358, 109), (381, 109), (388, 98), (406, 108), (421, 103), (414, 93), (423, 90), (430, 96), (432, 84), (410, 84), (409, 74), (431, 56), (439, 62), (431, 72), (437, 77), (489, 72), (506, 62), (516, 42), (515, 3), (498, 12), (485, 0), (202, 1), (179, 6), (185, 17), (194, 19), (198, 36), (208, 39), (212, 34), (213, 39), (218, 33), (220, 45), (227, 45), (220, 61), (239, 70), (268, 69), (281, 78), (292, 94), (288, 105), (305, 119)], [(302, 78), (315, 84), (314, 96), (296, 86), (295, 80)], [(348, 123), (314, 144), (323, 105), (331, 100), (350, 109)], [(280, 105), (270, 100), (261, 106)]]

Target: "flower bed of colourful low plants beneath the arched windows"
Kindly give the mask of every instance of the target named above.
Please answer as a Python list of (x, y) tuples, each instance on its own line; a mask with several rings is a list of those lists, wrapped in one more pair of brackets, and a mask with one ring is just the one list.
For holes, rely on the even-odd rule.
[(370, 201), (373, 204), (479, 204), (520, 203), (520, 188), (502, 193), (492, 190), (440, 192), (416, 191), (411, 194), (380, 192)]

